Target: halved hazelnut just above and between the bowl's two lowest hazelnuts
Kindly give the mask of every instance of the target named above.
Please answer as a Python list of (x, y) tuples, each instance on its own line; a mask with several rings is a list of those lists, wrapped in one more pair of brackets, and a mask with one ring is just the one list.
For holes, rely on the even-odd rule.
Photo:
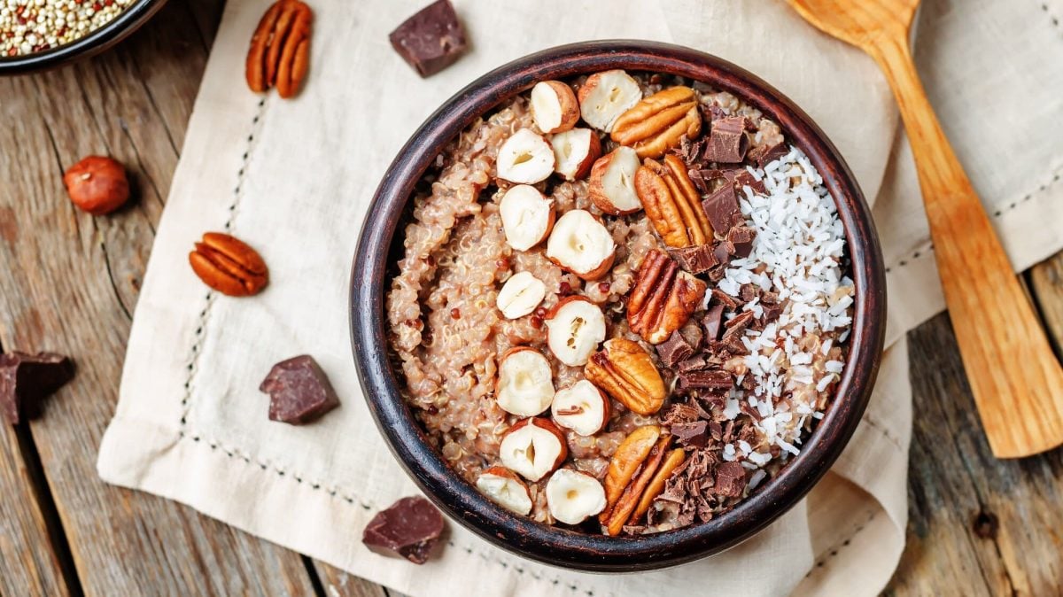
[(564, 462), (564, 434), (547, 419), (525, 419), (502, 437), (502, 465), (529, 481), (538, 481)]

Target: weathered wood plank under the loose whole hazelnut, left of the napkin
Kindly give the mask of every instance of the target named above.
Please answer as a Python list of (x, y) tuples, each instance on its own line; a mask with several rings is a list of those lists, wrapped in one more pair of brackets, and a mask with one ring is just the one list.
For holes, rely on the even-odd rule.
[[(183, 506), (104, 485), (95, 471), (129, 313), (205, 64), (204, 23), (171, 2), (104, 56), (0, 81), (0, 341), (78, 360), (77, 378), (31, 429), (89, 595), (314, 594), (298, 555)], [(62, 171), (94, 152), (130, 167), (141, 189), (136, 205), (95, 219), (70, 206)], [(17, 462), (3, 466), (18, 471)], [(32, 591), (12, 582), (19, 583), (13, 595)]]

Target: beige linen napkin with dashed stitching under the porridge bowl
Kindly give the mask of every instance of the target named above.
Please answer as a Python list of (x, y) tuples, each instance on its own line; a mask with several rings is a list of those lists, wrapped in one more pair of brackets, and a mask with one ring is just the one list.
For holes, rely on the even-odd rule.
[[(226, 6), (137, 305), (118, 410), (100, 448), (100, 476), (418, 596), (603, 597), (690, 586), (706, 594), (860, 595), (881, 589), (904, 548), (907, 522), (911, 395), (902, 335), (940, 310), (942, 301), (910, 153), (897, 138), (896, 110), (872, 62), (777, 1), (456, 0), (472, 51), (421, 80), (386, 35), (420, 2), (311, 3), (311, 72), (292, 101), (274, 93), (258, 98), (242, 81), (248, 40), (268, 0)], [(1054, 44), (1057, 58), (1063, 48), (1047, 21), (1046, 31), (1026, 27), (1040, 14), (993, 20), (1005, 10), (978, 3), (985, 10), (926, 15), (926, 35), (933, 36), (931, 25), (939, 23), (952, 33), (952, 40), (926, 44), (932, 64), (948, 73), (948, 88), (939, 91), (944, 99), (934, 99), (948, 105), (951, 89), (971, 93), (969, 101), (947, 107), (968, 114), (971, 104), (983, 101), (988, 105), (975, 114), (1026, 126), (1027, 137), (1037, 140), (1001, 144), (1012, 129), (991, 127), (986, 138), (997, 144), (983, 151), (985, 138), (949, 130), (968, 164), (995, 167), (973, 171), (975, 183), (993, 200), (991, 211), (1001, 210), (995, 221), (1015, 265), (1025, 267), (1063, 244), (1058, 226), (1030, 228), (1039, 217), (1059, 221), (1060, 189), (1046, 182), (1024, 199), (1030, 181), (1051, 180), (1046, 156), (1053, 166), (1061, 157), (1045, 140), (1059, 138), (1059, 123), (1027, 119), (1050, 114), (1045, 102), (1058, 100), (1036, 90), (1033, 98), (982, 91), (994, 82), (1023, 85), (1051, 76), (1057, 85), (1045, 88), (1058, 89), (1061, 73), (1043, 66), (1051, 61), (1032, 59), (1032, 46), (1015, 38)], [(468, 82), (545, 47), (611, 37), (691, 46), (766, 79), (817, 120), (868, 200), (878, 199), (876, 219), (891, 265), (890, 337), (899, 340), (883, 359), (872, 405), (838, 464), (806, 500), (712, 559), (665, 572), (586, 575), (521, 560), (457, 524), (450, 525), (441, 556), (422, 567), (372, 553), (360, 543), (365, 524), (417, 490), (379, 439), (351, 360), (348, 272), (366, 205), (405, 139)], [(976, 67), (971, 59), (982, 44), (1013, 50), (1018, 66), (984, 82), (985, 61), (974, 61)], [(1050, 126), (1054, 137), (1045, 136)], [(1007, 168), (1001, 155), (1012, 157)], [(192, 242), (220, 229), (259, 249), (270, 265), (272, 282), (263, 294), (217, 296), (188, 269)], [(305, 427), (267, 421), (259, 381), (275, 361), (303, 353), (321, 362), (342, 407)]]

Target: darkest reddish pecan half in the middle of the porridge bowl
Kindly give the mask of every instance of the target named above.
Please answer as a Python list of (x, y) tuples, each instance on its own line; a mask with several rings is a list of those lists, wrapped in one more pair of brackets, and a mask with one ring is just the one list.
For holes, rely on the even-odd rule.
[(704, 282), (680, 271), (671, 257), (653, 250), (642, 261), (627, 301), (627, 323), (646, 342), (660, 344), (697, 310), (705, 290)]

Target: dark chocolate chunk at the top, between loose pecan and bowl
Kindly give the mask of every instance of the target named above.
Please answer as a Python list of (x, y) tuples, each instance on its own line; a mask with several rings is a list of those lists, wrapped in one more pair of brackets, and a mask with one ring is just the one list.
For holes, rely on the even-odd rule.
[(450, 0), (421, 8), (388, 38), (395, 52), (421, 76), (432, 76), (451, 66), (466, 49), (465, 30)]

